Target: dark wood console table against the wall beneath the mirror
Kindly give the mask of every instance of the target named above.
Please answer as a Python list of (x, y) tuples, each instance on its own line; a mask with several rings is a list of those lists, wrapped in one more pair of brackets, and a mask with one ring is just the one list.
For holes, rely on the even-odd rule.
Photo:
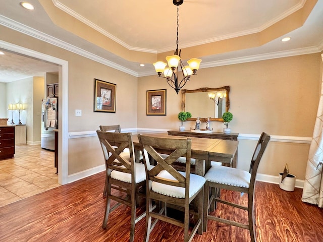
[[(209, 139), (219, 139), (219, 140), (238, 140), (238, 136), (239, 136), (239, 133), (230, 133), (230, 134), (225, 134), (221, 132), (195, 133), (191, 131), (179, 131), (179, 130), (169, 130), (167, 132), (168, 132), (168, 135), (209, 138)], [(231, 167), (237, 168), (237, 157), (238, 157), (238, 150), (236, 155), (232, 159)]]

